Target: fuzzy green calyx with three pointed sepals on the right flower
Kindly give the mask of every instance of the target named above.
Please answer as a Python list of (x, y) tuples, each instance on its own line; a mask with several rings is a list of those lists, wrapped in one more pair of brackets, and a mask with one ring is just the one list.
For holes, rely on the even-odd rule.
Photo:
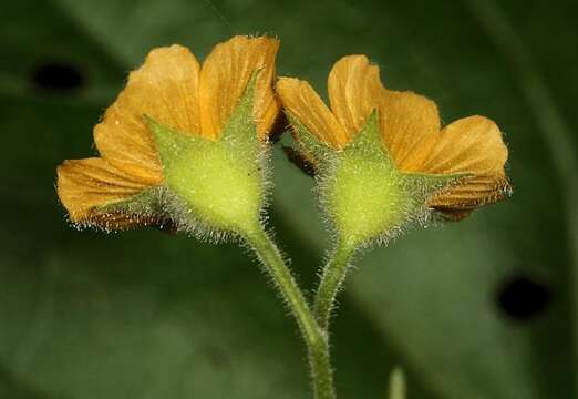
[(378, 112), (343, 150), (331, 150), (302, 125), (300, 144), (317, 165), (320, 201), (349, 248), (381, 243), (429, 216), (427, 198), (462, 175), (404, 173), (384, 147)]

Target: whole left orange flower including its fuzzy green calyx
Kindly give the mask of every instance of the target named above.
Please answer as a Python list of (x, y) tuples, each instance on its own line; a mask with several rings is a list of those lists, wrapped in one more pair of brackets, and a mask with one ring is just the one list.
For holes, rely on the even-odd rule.
[[(100, 156), (58, 168), (71, 222), (105, 229), (255, 222), (266, 185), (261, 144), (279, 112), (278, 48), (276, 39), (235, 37), (203, 65), (182, 45), (151, 51), (94, 127)], [(180, 217), (194, 221), (173, 221)]]

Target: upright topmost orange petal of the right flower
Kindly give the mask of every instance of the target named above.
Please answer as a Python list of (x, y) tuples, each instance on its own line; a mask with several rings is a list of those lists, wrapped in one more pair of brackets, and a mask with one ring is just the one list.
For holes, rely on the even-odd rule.
[(349, 137), (358, 134), (380, 103), (380, 70), (365, 55), (347, 55), (336, 62), (328, 78), (331, 111)]

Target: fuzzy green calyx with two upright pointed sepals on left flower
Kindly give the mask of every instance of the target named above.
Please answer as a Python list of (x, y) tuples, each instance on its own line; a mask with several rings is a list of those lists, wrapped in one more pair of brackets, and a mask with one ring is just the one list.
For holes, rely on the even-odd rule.
[(246, 234), (260, 225), (267, 192), (267, 146), (252, 116), (255, 76), (216, 141), (147, 117), (166, 187), (165, 211), (180, 228), (205, 237)]

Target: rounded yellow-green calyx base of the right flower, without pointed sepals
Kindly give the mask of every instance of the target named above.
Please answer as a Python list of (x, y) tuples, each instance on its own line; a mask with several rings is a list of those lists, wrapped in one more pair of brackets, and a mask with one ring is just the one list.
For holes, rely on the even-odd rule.
[(385, 163), (345, 156), (328, 183), (331, 216), (352, 246), (391, 233), (412, 204), (402, 176)]

